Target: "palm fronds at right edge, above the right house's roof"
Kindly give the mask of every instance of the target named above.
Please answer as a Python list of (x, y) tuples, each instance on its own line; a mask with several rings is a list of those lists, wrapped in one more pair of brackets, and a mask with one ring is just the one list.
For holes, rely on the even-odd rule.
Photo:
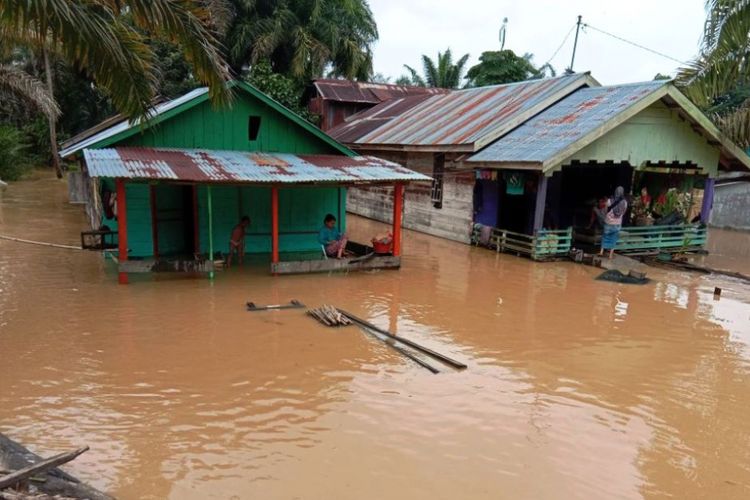
[[(677, 84), (696, 104), (711, 111), (750, 84), (750, 3), (707, 0), (707, 19), (699, 56), (677, 73)], [(750, 99), (740, 99), (714, 119), (735, 142), (750, 145)]]

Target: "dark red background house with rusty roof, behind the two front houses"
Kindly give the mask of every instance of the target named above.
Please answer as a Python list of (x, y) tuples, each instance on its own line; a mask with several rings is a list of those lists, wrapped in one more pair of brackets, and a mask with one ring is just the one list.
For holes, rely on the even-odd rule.
[(409, 96), (446, 94), (449, 90), (393, 83), (357, 82), (336, 78), (313, 80), (305, 92), (308, 109), (319, 117), (319, 126), (328, 131), (352, 115), (381, 102)]

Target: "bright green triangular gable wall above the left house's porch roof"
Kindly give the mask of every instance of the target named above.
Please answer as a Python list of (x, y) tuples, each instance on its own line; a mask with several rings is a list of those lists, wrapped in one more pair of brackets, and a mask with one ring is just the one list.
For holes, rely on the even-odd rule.
[[(261, 117), (257, 140), (252, 141), (248, 137), (250, 116)], [(246, 92), (236, 93), (231, 108), (216, 109), (205, 101), (116, 146), (341, 154)]]

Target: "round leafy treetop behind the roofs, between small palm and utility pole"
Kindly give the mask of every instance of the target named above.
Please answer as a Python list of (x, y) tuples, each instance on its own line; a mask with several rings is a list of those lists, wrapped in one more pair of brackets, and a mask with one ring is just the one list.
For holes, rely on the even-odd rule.
[[(512, 50), (495, 50), (482, 52), (479, 64), (469, 68), (466, 78), (471, 87), (499, 85), (503, 83), (521, 82), (544, 76), (543, 68), (537, 68), (531, 62), (531, 54), (516, 55)], [(554, 76), (554, 70), (551, 70)]]

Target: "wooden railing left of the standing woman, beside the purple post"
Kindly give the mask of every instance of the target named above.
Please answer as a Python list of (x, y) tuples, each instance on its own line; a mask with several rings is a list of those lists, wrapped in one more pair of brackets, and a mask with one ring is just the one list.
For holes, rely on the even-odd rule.
[(534, 260), (549, 260), (567, 255), (573, 241), (573, 229), (541, 229), (535, 235), (493, 229), (490, 247), (498, 252), (526, 255)]

